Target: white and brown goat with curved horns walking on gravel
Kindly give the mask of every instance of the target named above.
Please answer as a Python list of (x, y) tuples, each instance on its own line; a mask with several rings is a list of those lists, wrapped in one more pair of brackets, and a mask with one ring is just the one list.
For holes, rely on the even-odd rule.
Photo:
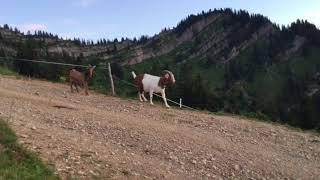
[(150, 74), (140, 74), (137, 76), (133, 71), (131, 73), (138, 88), (138, 96), (140, 101), (147, 101), (144, 93), (149, 92), (150, 104), (153, 105), (153, 93), (161, 93), (166, 107), (170, 107), (167, 103), (165, 89), (168, 85), (173, 85), (176, 81), (172, 72), (164, 70), (161, 77)]

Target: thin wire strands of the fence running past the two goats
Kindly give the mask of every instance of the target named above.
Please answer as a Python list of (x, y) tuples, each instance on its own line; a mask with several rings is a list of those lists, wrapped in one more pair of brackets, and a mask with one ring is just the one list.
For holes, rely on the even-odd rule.
[[(0, 57), (0, 61), (23, 61), (23, 62), (31, 62), (31, 63), (43, 63), (43, 64), (54, 64), (54, 65), (61, 65), (61, 66), (72, 66), (72, 67), (84, 67), (84, 68), (87, 68), (88, 66), (85, 66), (85, 65), (79, 65), (79, 64), (70, 64), (70, 63), (60, 63), (60, 62), (53, 62), (53, 61), (47, 61), (45, 59), (37, 59), (37, 60), (34, 60), (34, 59), (23, 59), (23, 58), (9, 58), (9, 57)], [(106, 67), (101, 67), (101, 66), (97, 66), (97, 68), (99, 69), (103, 69), (103, 70), (108, 70), (108, 68)], [(128, 82), (124, 79), (120, 79), (118, 78), (117, 76), (112, 76), (114, 79), (116, 79), (117, 81), (123, 83), (123, 84), (126, 84), (128, 86), (131, 86), (131, 87), (137, 87), (135, 84), (131, 83), (131, 82)], [(162, 98), (162, 96), (156, 94), (156, 93), (153, 93), (153, 95), (157, 96), (157, 97), (160, 97)], [(176, 101), (173, 101), (171, 99), (168, 99), (166, 98), (167, 101), (179, 106), (179, 107), (184, 107), (184, 108), (187, 108), (187, 109), (190, 109), (190, 110), (193, 110), (193, 111), (198, 111), (197, 109), (195, 108), (192, 108), (190, 106), (187, 106), (187, 105), (184, 105), (180, 102), (176, 102)]]

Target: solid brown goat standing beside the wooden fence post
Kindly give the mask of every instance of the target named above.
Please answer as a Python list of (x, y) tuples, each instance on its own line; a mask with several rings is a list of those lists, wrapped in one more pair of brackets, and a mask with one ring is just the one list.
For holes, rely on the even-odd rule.
[(70, 79), (70, 89), (71, 93), (73, 93), (73, 88), (72, 85), (76, 87), (77, 92), (78, 90), (78, 85), (80, 87), (84, 87), (85, 90), (85, 95), (88, 94), (88, 82), (92, 78), (93, 70), (96, 66), (91, 66), (89, 64), (88, 69), (84, 72), (79, 72), (75, 69), (71, 69), (69, 72), (69, 79)]

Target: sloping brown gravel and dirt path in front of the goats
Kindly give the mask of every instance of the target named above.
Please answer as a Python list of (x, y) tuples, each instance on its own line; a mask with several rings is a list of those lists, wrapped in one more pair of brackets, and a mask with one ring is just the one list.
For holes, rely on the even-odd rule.
[(0, 76), (0, 116), (63, 178), (318, 179), (320, 138)]

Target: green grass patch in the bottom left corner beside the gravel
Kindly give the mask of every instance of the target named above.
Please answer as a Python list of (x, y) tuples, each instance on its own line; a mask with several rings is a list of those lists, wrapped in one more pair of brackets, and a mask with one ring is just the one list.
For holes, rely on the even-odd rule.
[(59, 179), (35, 153), (17, 144), (17, 137), (0, 119), (0, 180)]

